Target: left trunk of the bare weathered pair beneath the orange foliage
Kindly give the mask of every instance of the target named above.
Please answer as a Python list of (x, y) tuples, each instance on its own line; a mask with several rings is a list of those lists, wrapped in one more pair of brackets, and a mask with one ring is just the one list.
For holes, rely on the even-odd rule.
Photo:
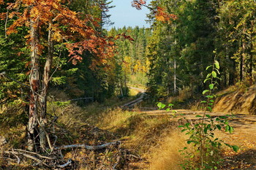
[(37, 111), (38, 111), (38, 89), (39, 89), (39, 56), (37, 21), (31, 20), (31, 73), (29, 83), (31, 87), (30, 104), (29, 104), (29, 123), (28, 123), (28, 150), (34, 150), (35, 139), (37, 137)]

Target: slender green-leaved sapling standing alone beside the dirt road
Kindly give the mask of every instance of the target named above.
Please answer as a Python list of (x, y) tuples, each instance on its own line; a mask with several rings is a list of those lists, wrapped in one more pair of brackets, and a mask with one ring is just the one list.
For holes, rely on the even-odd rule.
[[(196, 152), (200, 152), (201, 164), (200, 169), (217, 169), (217, 166), (212, 166), (212, 163), (219, 164), (217, 162), (206, 161), (211, 160), (212, 156), (215, 152), (219, 152), (220, 147), (222, 146), (222, 141), (218, 138), (214, 137), (214, 131), (222, 130), (222, 127), (225, 128), (225, 131), (230, 134), (233, 133), (234, 129), (228, 124), (228, 117), (212, 117), (211, 115), (207, 115), (206, 111), (211, 112), (212, 106), (214, 105), (214, 98), (216, 97), (212, 90), (217, 88), (218, 82), (216, 79), (219, 79), (217, 75), (219, 74), (219, 62), (214, 61), (214, 64), (208, 66), (206, 70), (211, 68), (211, 72), (207, 74), (206, 80), (204, 82), (210, 81), (208, 85), (208, 89), (203, 90), (203, 95), (207, 98), (204, 101), (200, 101), (203, 104), (205, 112), (203, 115), (196, 115), (195, 117), (199, 117), (200, 119), (197, 123), (186, 123), (185, 125), (180, 125), (179, 127), (183, 128), (181, 132), (186, 131), (186, 134), (189, 135), (189, 139), (187, 140), (187, 144), (192, 144), (195, 147)], [(238, 147), (236, 145), (231, 146), (230, 144), (226, 144), (227, 146), (233, 148), (237, 152)], [(189, 152), (190, 155), (193, 155), (192, 152)], [(202, 158), (204, 157), (204, 158)], [(187, 156), (187, 158), (192, 158)]]

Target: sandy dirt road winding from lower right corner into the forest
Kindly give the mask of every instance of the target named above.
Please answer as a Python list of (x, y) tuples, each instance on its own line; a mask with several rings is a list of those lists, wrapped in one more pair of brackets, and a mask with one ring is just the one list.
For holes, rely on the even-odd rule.
[[(142, 93), (134, 101), (130, 101), (127, 104), (124, 104), (124, 108), (131, 109), (135, 104), (143, 101), (143, 96), (145, 95), (145, 90), (141, 88), (129, 87), (134, 90), (138, 90)], [(170, 121), (179, 121), (181, 119), (186, 119), (187, 121), (197, 121), (200, 120), (200, 117), (195, 117), (196, 115), (203, 115), (203, 111), (192, 111), (189, 109), (177, 109), (176, 113), (171, 111), (167, 112), (165, 110), (139, 110), (136, 111), (141, 115), (154, 115), (154, 116), (163, 116), (169, 115)], [(231, 115), (227, 112), (207, 112), (207, 115), (211, 117)], [(225, 142), (232, 145), (238, 145), (240, 150), (236, 153), (233, 151), (225, 151), (224, 163), (221, 170), (225, 169), (255, 169), (256, 170), (256, 116), (255, 115), (234, 115), (230, 117), (230, 125), (233, 126), (235, 131), (233, 134), (227, 134), (225, 131), (218, 132), (218, 136), (222, 138)]]

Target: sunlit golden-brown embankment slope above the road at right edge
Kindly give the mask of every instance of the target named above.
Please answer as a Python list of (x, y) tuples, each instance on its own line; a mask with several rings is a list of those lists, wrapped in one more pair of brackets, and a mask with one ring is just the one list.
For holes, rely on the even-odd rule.
[(256, 115), (256, 85), (249, 88), (233, 86), (217, 93), (214, 112)]

